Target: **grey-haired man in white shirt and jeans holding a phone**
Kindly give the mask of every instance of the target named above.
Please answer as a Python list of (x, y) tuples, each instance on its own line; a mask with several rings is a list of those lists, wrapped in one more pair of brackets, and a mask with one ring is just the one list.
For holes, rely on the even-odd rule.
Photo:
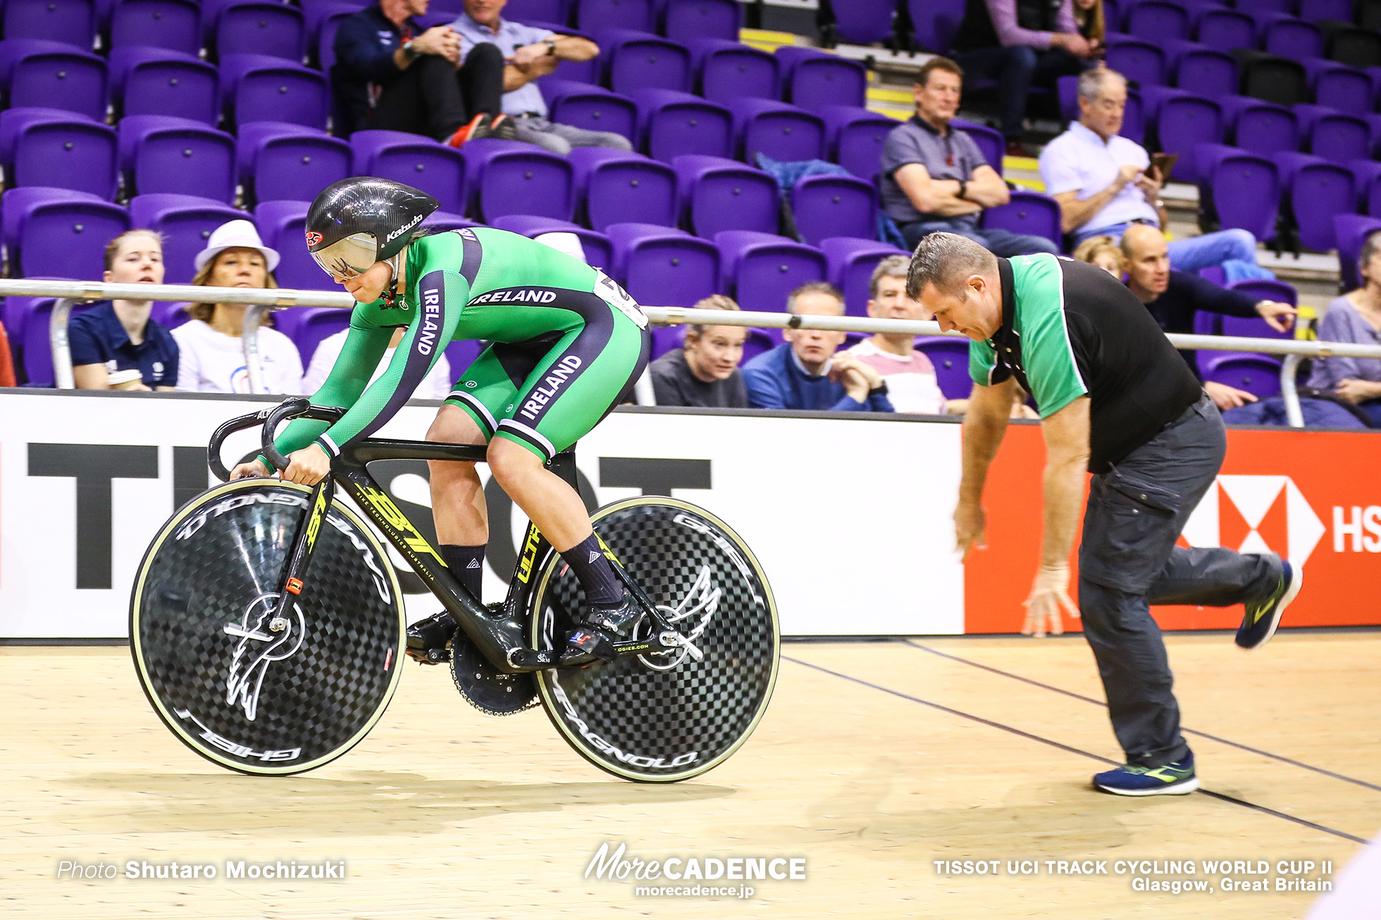
[[(1119, 134), (1126, 108), (1123, 75), (1085, 70), (1079, 77), (1079, 122), (1040, 155), (1045, 193), (1059, 202), (1062, 229), (1073, 233), (1074, 246), (1091, 236), (1119, 240), (1135, 224), (1164, 229), (1170, 220), (1160, 199), (1164, 177), (1150, 169), (1146, 148)], [(1182, 272), (1236, 261), (1248, 264), (1243, 276), (1259, 274), (1257, 239), (1244, 229), (1172, 240), (1170, 261)]]

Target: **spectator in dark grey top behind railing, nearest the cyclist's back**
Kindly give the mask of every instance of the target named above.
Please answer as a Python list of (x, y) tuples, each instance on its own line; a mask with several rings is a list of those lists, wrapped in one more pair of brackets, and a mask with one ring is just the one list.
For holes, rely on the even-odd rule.
[[(714, 294), (696, 303), (695, 309), (736, 311), (739, 305)], [(739, 372), (747, 337), (746, 326), (689, 323), (685, 344), (648, 365), (657, 405), (747, 409), (749, 391)]]

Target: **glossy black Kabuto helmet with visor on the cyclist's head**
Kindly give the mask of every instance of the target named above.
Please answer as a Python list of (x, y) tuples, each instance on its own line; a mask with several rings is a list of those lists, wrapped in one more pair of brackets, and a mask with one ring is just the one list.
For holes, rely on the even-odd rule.
[(327, 185), (307, 211), (307, 249), (329, 275), (349, 278), (392, 258), (441, 207), (402, 182), (356, 175)]

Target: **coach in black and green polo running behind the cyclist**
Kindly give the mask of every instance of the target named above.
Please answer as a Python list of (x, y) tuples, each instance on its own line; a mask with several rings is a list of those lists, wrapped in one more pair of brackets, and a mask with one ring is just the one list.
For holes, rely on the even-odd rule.
[[(1094, 776), (1121, 796), (1199, 787), (1179, 734), (1179, 706), (1150, 604), (1246, 604), (1237, 645), (1264, 645), (1300, 591), (1300, 569), (1275, 554), (1177, 547), (1214, 483), (1226, 432), (1213, 401), (1141, 301), (1095, 265), (1048, 254), (997, 258), (953, 233), (916, 247), (907, 293), (940, 326), (972, 340), (974, 394), (964, 420), (964, 474), (954, 530), (968, 555), (982, 540), (983, 481), (997, 454), (1012, 388), (1030, 392), (1045, 434), (1045, 529), (1023, 633), (1062, 631), (1061, 608), (1083, 612), (1113, 731), (1127, 764)], [(1084, 471), (1092, 472), (1070, 601)]]

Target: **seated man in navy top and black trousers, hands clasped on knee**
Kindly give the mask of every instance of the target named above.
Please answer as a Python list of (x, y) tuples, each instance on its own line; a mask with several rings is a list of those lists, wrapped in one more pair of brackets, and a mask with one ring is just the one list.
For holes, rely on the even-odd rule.
[(341, 21), (331, 90), (341, 133), (425, 134), (460, 146), (467, 140), (514, 140), (501, 115), (504, 62), (499, 48), (461, 54), (450, 26), (423, 30), (413, 19), (429, 0), (378, 0)]

